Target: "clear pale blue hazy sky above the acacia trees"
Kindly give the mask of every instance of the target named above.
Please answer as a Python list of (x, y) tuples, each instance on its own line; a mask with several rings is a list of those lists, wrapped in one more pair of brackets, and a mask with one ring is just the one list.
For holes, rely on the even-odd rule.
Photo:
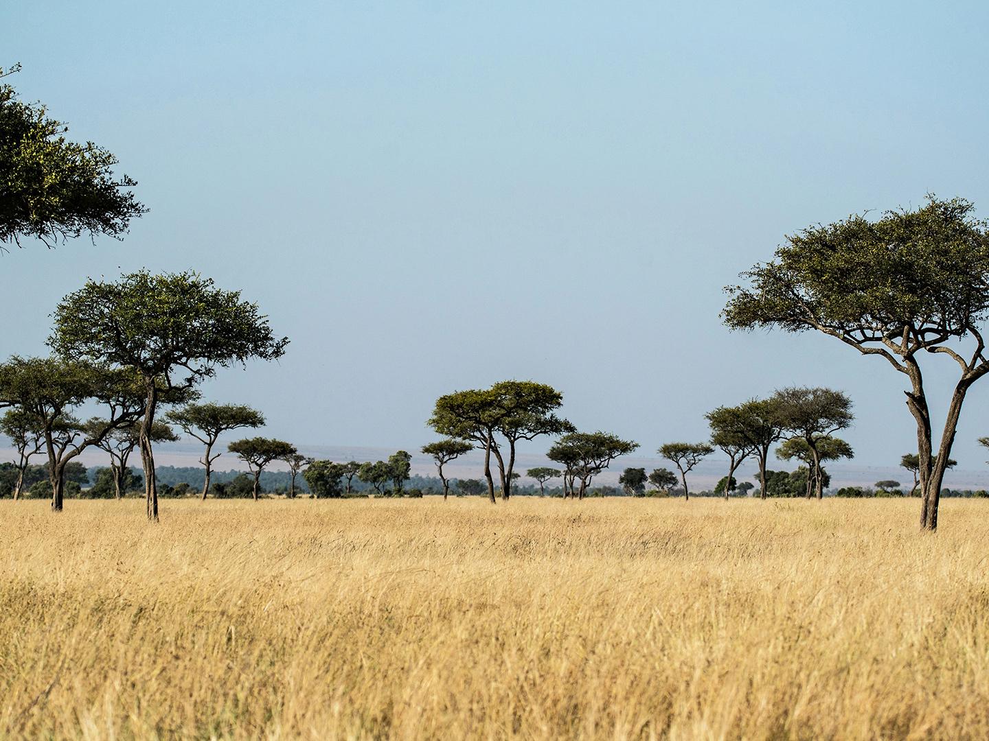
[[(86, 277), (193, 268), (292, 340), (208, 394), (301, 444), (411, 450), (438, 395), (515, 377), (652, 451), (827, 384), (859, 460), (895, 465), (916, 450), (899, 375), (730, 333), (722, 287), (812, 222), (927, 192), (989, 215), (987, 26), (982, 3), (902, 0), (4, 3), (9, 81), (151, 210), (120, 243), (0, 258), (0, 352), (44, 352)], [(955, 373), (934, 360), (932, 385)], [(983, 381), (960, 467), (987, 402)]]

